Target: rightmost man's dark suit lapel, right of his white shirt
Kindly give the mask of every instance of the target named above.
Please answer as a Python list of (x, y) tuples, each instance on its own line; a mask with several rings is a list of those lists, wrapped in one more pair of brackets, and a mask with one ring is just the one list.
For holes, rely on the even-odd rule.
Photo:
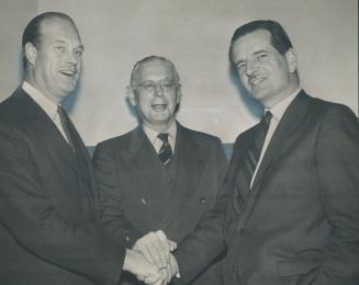
[(265, 174), (270, 169), (270, 164), (288, 150), (291, 137), (298, 129), (306, 113), (308, 102), (310, 96), (306, 95), (304, 91), (301, 91), (284, 112), (258, 168), (255, 181), (253, 183), (253, 193), (249, 195), (246, 203), (246, 208), (243, 215), (239, 217), (238, 229), (244, 227), (246, 220), (251, 214), (254, 205), (260, 195), (261, 184), (266, 176)]

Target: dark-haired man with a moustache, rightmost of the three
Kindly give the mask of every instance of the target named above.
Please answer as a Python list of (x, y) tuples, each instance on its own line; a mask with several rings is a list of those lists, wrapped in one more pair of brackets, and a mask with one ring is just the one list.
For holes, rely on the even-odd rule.
[(358, 284), (355, 114), (300, 88), (295, 52), (274, 21), (238, 27), (229, 57), (266, 116), (234, 146), (225, 283)]

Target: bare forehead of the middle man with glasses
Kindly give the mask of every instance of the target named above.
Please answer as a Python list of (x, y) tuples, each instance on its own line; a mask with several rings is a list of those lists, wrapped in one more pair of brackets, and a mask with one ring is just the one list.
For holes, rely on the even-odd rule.
[(136, 72), (136, 78), (139, 80), (175, 79), (175, 71), (167, 61), (156, 59), (141, 64)]

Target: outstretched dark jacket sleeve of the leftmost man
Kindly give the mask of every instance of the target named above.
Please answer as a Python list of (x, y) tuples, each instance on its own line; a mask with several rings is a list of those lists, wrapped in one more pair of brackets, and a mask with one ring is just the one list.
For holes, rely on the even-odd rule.
[(42, 183), (38, 163), (23, 134), (0, 121), (1, 224), (38, 259), (98, 284), (116, 284), (125, 247), (104, 236), (96, 221), (64, 219)]

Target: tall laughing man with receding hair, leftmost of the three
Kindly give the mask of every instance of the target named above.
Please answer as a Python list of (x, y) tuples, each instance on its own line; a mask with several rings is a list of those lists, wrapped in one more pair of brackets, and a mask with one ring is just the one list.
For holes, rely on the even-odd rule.
[(161, 277), (104, 235), (87, 150), (60, 102), (83, 50), (74, 21), (47, 12), (23, 33), (25, 80), (0, 104), (0, 284), (116, 284), (122, 269)]

